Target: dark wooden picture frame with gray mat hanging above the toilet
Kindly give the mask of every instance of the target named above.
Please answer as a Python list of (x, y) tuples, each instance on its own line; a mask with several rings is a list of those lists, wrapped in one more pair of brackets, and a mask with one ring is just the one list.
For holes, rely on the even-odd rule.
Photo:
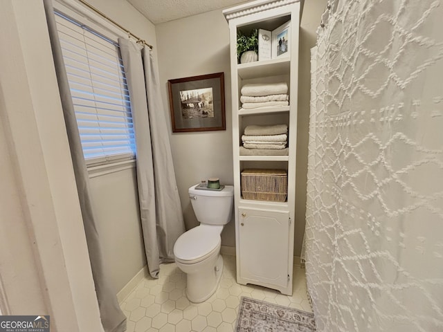
[(226, 130), (224, 73), (168, 80), (172, 132)]

